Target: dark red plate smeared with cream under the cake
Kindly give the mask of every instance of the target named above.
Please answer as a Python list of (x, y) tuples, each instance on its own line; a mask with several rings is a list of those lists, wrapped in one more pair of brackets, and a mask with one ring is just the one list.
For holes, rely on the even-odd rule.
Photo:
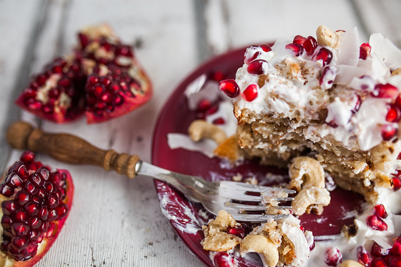
[[(208, 158), (198, 152), (184, 149), (171, 150), (167, 144), (167, 133), (187, 133), (190, 122), (196, 117), (195, 112), (187, 108), (186, 97), (183, 95), (185, 88), (197, 77), (203, 74), (211, 75), (215, 71), (223, 71), (228, 79), (234, 79), (235, 73), (244, 61), (245, 48), (230, 51), (203, 64), (188, 76), (174, 91), (166, 102), (158, 119), (153, 137), (152, 163), (156, 166), (180, 172), (184, 174), (197, 175), (207, 180), (231, 179), (233, 175), (241, 173), (243, 177), (254, 176), (264, 183), (274, 184), (277, 181), (266, 181), (266, 173), (286, 175), (288, 170), (278, 169), (270, 166), (260, 166), (257, 161), (246, 161), (240, 166), (226, 168), (227, 164), (220, 164), (218, 158)], [(200, 245), (204, 238), (202, 225), (205, 225), (210, 214), (203, 211), (202, 205), (188, 201), (181, 193), (167, 184), (155, 180), (155, 186), (160, 206), (163, 213), (169, 219), (171, 226), (188, 247), (207, 266), (214, 267), (209, 258), (209, 252)], [(300, 217), (301, 224), (306, 230), (313, 231), (315, 236), (340, 233), (344, 224), (352, 224), (354, 217), (348, 216), (351, 211), (358, 209), (363, 203), (363, 198), (355, 193), (335, 189), (330, 193), (331, 203), (324, 208), (322, 215), (303, 215)], [(208, 217), (209, 216), (209, 217)], [(239, 266), (260, 266), (258, 262), (251, 262), (238, 258)]]

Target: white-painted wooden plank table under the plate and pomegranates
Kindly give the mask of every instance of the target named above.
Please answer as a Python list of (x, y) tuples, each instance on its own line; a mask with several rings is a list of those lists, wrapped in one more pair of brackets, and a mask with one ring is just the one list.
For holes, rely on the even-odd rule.
[[(21, 155), (5, 140), (7, 127), (18, 119), (150, 161), (158, 113), (199, 63), (231, 48), (298, 34), (315, 36), (319, 25), (333, 30), (357, 26), (361, 42), (381, 32), (401, 47), (400, 10), (399, 0), (0, 0), (0, 167), (4, 170)], [(84, 119), (56, 125), (13, 104), (32, 74), (73, 47), (78, 29), (100, 23), (110, 24), (125, 43), (135, 46), (154, 86), (148, 104), (97, 125)], [(37, 157), (53, 168), (70, 170), (76, 186), (66, 225), (37, 266), (202, 265), (161, 213), (151, 179), (128, 180), (99, 167)]]

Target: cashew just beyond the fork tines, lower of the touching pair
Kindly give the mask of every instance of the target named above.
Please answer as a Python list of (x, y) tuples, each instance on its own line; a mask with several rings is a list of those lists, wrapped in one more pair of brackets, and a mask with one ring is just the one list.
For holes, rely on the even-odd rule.
[(327, 206), (330, 204), (330, 199), (330, 193), (326, 188), (312, 186), (302, 189), (292, 200), (291, 206), (295, 215), (302, 215), (310, 205)]

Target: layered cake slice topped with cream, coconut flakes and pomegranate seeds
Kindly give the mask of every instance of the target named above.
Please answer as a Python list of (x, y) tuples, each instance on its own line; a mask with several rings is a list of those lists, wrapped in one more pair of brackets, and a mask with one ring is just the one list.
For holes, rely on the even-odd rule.
[(401, 51), (380, 34), (360, 45), (356, 28), (251, 46), (233, 98), (240, 146), (262, 162), (317, 159), (336, 184), (377, 203), (401, 170)]

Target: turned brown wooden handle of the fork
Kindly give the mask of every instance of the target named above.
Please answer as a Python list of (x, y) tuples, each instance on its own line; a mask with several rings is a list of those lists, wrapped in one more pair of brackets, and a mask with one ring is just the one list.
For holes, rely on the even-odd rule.
[(136, 176), (135, 166), (140, 161), (137, 155), (118, 154), (112, 149), (102, 150), (77, 136), (46, 133), (22, 121), (8, 128), (6, 139), (17, 149), (44, 152), (67, 163), (97, 165), (106, 171), (115, 170), (128, 178)]

